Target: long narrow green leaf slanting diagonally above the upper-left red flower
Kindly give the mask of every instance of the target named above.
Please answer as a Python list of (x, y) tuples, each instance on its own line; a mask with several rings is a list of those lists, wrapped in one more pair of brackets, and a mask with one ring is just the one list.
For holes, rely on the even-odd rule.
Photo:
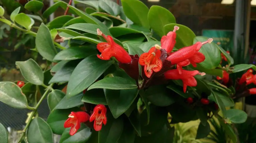
[(73, 6), (69, 5), (69, 8), (74, 10), (87, 23), (92, 23), (92, 24), (100, 25), (101, 27), (106, 27), (101, 21), (99, 21), (98, 19), (94, 18), (93, 16), (90, 16), (89, 14), (87, 14), (85, 12), (82, 12), (81, 10), (79, 10), (79, 9), (73, 7)]

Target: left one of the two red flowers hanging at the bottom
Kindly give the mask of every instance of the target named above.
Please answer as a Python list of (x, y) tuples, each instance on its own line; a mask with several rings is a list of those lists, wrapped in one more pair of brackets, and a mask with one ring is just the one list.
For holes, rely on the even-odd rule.
[(71, 127), (69, 135), (73, 136), (75, 135), (75, 133), (77, 133), (77, 130), (80, 128), (80, 123), (87, 122), (89, 118), (90, 115), (86, 112), (71, 112), (71, 114), (69, 114), (69, 118), (64, 123), (64, 127)]

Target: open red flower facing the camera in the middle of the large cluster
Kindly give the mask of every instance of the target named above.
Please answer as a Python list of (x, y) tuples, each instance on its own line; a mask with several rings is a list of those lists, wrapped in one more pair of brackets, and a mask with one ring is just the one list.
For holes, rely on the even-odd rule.
[(148, 53), (141, 54), (141, 57), (139, 58), (139, 63), (144, 66), (144, 73), (148, 78), (150, 78), (153, 71), (158, 72), (162, 68), (160, 49), (161, 47), (159, 45), (155, 45), (148, 51)]

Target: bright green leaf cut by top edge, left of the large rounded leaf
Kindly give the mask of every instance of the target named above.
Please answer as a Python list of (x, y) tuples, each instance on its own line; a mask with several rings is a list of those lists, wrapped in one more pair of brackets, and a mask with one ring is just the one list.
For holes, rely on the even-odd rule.
[(148, 23), (148, 7), (139, 0), (121, 0), (123, 11), (134, 23), (150, 28)]

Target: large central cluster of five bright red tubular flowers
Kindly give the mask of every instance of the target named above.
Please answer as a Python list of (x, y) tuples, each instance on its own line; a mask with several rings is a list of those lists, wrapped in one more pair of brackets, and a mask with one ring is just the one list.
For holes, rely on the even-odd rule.
[[(174, 26), (174, 30), (170, 31), (166, 36), (161, 38), (161, 46), (155, 45), (151, 47), (147, 53), (141, 54), (139, 57), (139, 64), (143, 66), (144, 74), (146, 78), (151, 78), (152, 74), (159, 72), (163, 65), (164, 61), (168, 60), (171, 62), (171, 66), (176, 65), (176, 70), (165, 71), (165, 79), (183, 81), (183, 91), (186, 92), (187, 86), (196, 86), (197, 81), (194, 76), (205, 75), (205, 73), (199, 73), (199, 71), (187, 71), (183, 70), (183, 66), (188, 66), (191, 64), (196, 67), (196, 63), (203, 62), (205, 56), (203, 53), (199, 52), (202, 45), (211, 43), (212, 38), (209, 38), (205, 42), (196, 42), (194, 45), (183, 47), (175, 52), (172, 52), (174, 45), (176, 43), (176, 31), (179, 30), (178, 26)], [(113, 41), (111, 36), (104, 35), (100, 29), (97, 29), (98, 35), (101, 35), (107, 42), (102, 42), (97, 45), (97, 49), (101, 52), (101, 55), (97, 55), (98, 58), (102, 60), (109, 60), (111, 57), (115, 57), (122, 64), (129, 64), (132, 62), (131, 56), (117, 43)], [(167, 56), (162, 56), (164, 52), (167, 53)], [(135, 55), (136, 56), (136, 55)], [(163, 59), (164, 57), (164, 59)]]

